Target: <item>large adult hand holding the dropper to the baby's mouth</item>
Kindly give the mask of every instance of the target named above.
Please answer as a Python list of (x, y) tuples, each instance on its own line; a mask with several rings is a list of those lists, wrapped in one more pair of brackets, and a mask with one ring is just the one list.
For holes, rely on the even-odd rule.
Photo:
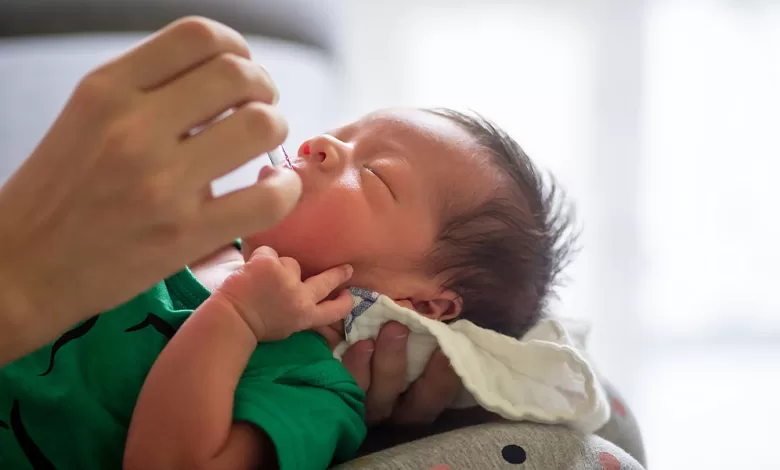
[(187, 18), (79, 83), (0, 189), (0, 364), (297, 203), (287, 170), (211, 196), (212, 180), (287, 134), (271, 78), (249, 57), (237, 32)]

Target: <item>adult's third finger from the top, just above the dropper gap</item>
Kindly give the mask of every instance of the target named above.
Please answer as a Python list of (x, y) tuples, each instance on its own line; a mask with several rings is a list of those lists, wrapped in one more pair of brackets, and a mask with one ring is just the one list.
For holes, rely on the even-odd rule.
[(181, 142), (176, 158), (187, 165), (191, 185), (201, 188), (277, 147), (286, 137), (287, 121), (279, 111), (253, 101)]

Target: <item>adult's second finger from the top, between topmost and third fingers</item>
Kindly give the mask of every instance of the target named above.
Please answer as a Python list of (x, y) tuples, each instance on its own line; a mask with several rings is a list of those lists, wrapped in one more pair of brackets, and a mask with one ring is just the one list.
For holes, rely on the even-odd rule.
[[(197, 97), (197, 99), (193, 99)], [(178, 135), (249, 101), (274, 104), (278, 91), (259, 64), (236, 54), (219, 54), (190, 73), (146, 96), (160, 119)]]

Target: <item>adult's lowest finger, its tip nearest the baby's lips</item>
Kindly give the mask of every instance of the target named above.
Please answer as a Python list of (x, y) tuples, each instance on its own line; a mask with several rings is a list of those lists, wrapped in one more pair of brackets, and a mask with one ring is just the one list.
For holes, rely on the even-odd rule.
[(209, 234), (213, 246), (235, 237), (267, 230), (298, 203), (301, 179), (292, 170), (264, 167), (267, 174), (254, 185), (210, 199), (195, 223)]

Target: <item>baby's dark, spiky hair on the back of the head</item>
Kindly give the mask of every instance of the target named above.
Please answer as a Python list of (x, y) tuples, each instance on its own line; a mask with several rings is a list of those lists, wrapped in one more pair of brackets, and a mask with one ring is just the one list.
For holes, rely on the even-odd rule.
[(573, 206), (506, 132), (478, 114), (427, 110), (466, 130), (501, 174), (496, 194), (451, 214), (428, 256), (463, 301), (459, 318), (519, 338), (544, 315), (574, 251)]

